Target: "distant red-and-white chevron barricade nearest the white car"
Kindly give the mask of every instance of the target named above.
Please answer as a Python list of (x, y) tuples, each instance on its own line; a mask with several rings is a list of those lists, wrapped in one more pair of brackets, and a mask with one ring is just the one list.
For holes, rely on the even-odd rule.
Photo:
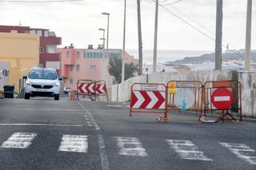
[(76, 91), (76, 100), (79, 101), (79, 96), (89, 97), (90, 100), (96, 100), (95, 93), (95, 83), (94, 80), (78, 80), (77, 82), (77, 91)]

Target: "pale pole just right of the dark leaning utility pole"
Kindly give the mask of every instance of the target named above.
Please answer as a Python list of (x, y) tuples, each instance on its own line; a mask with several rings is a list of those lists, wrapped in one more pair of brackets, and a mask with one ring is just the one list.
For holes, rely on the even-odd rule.
[(157, 71), (157, 53), (158, 53), (157, 48), (158, 48), (158, 0), (155, 1), (153, 73)]

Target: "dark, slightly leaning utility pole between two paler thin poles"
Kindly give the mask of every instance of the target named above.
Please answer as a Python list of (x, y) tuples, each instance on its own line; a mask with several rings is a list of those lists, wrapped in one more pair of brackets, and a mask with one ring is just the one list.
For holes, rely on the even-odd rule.
[(142, 75), (142, 22), (141, 22), (141, 0), (137, 0), (138, 9), (138, 75)]

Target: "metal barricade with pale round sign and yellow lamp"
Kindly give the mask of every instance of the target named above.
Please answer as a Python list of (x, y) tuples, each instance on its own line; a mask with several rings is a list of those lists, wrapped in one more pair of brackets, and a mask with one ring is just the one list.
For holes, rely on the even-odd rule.
[(201, 81), (169, 81), (167, 110), (190, 110), (202, 113)]

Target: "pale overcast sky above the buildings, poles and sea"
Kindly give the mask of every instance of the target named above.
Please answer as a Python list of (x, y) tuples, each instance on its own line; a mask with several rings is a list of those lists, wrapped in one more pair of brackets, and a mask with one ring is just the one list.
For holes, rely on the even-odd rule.
[[(0, 25), (18, 26), (20, 22), (22, 26), (49, 29), (62, 37), (62, 46), (73, 43), (76, 48), (102, 43), (102, 31), (98, 29), (106, 29), (107, 18), (101, 13), (108, 12), (109, 48), (122, 49), (124, 0), (54, 3), (1, 1)], [(152, 2), (141, 1), (143, 49), (154, 47), (155, 6), (150, 1)], [(176, 1), (167, 0), (161, 4)], [(245, 48), (246, 2), (247, 0), (223, 0), (223, 44), (230, 44), (230, 49)], [(215, 0), (182, 0), (165, 7), (205, 34), (215, 37)], [(253, 1), (252, 49), (256, 49), (255, 17), (256, 2)], [(138, 49), (137, 0), (127, 0), (126, 49)], [(159, 6), (158, 49), (214, 51), (214, 41)]]

